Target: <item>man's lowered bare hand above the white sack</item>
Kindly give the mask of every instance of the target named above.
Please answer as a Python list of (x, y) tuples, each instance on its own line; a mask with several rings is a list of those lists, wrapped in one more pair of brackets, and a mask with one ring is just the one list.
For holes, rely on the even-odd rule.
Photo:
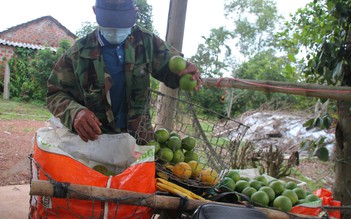
[(74, 129), (85, 142), (88, 142), (88, 140), (94, 141), (98, 138), (101, 134), (101, 125), (95, 114), (87, 109), (79, 111), (73, 121)]

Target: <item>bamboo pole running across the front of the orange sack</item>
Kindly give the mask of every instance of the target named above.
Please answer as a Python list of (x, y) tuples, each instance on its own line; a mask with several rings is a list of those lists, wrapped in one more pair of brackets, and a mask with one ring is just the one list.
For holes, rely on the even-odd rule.
[[(164, 196), (156, 194), (139, 193), (127, 190), (102, 188), (96, 186), (86, 186), (78, 184), (66, 184), (67, 185), (67, 195), (62, 198), (70, 199), (82, 199), (82, 200), (92, 200), (94, 197), (101, 201), (116, 201), (120, 200), (119, 203), (126, 205), (138, 205), (146, 206), (154, 209), (165, 209), (165, 210), (177, 210), (180, 202), (182, 201), (179, 197)], [(30, 186), (29, 195), (38, 196), (54, 196), (54, 185), (49, 181), (44, 180), (33, 180)], [(202, 200), (188, 200), (185, 210), (194, 211), (197, 207), (206, 203), (217, 203), (227, 206), (237, 206), (243, 207), (242, 205), (229, 204), (222, 202), (212, 202), (212, 201), (202, 201)], [(268, 208), (256, 209), (262, 211), (270, 219), (292, 219), (292, 218), (306, 218), (297, 214), (287, 214), (281, 211)], [(316, 217), (308, 217), (316, 218)]]

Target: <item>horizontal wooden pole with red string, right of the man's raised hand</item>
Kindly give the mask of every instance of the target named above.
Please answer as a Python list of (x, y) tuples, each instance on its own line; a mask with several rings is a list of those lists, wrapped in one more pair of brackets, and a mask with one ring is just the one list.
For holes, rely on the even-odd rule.
[(351, 88), (343, 86), (323, 86), (280, 81), (256, 81), (238, 78), (203, 78), (202, 83), (203, 86), (207, 87), (232, 87), (334, 100), (351, 100)]

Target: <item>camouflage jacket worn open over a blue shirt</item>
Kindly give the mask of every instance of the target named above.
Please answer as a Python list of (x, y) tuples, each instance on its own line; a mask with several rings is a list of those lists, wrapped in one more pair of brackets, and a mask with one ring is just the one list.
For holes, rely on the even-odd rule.
[[(133, 27), (125, 42), (129, 129), (135, 129), (135, 123), (147, 104), (150, 75), (170, 88), (179, 86), (179, 76), (168, 68), (168, 61), (174, 55), (180, 55), (180, 52), (153, 33)], [(114, 118), (107, 100), (106, 76), (109, 74), (95, 30), (77, 40), (56, 63), (48, 79), (47, 108), (73, 132), (76, 114), (86, 108), (101, 121), (103, 133), (118, 132), (112, 126)]]

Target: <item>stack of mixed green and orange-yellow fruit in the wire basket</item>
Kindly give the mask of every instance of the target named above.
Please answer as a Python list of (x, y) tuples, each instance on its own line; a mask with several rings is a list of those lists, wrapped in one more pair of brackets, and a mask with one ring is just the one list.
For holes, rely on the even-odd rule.
[(175, 179), (182, 184), (198, 187), (213, 187), (219, 181), (216, 170), (201, 163), (196, 152), (197, 139), (181, 137), (176, 132), (159, 128), (154, 132), (154, 140), (148, 145), (155, 146), (158, 161), (158, 177)]

